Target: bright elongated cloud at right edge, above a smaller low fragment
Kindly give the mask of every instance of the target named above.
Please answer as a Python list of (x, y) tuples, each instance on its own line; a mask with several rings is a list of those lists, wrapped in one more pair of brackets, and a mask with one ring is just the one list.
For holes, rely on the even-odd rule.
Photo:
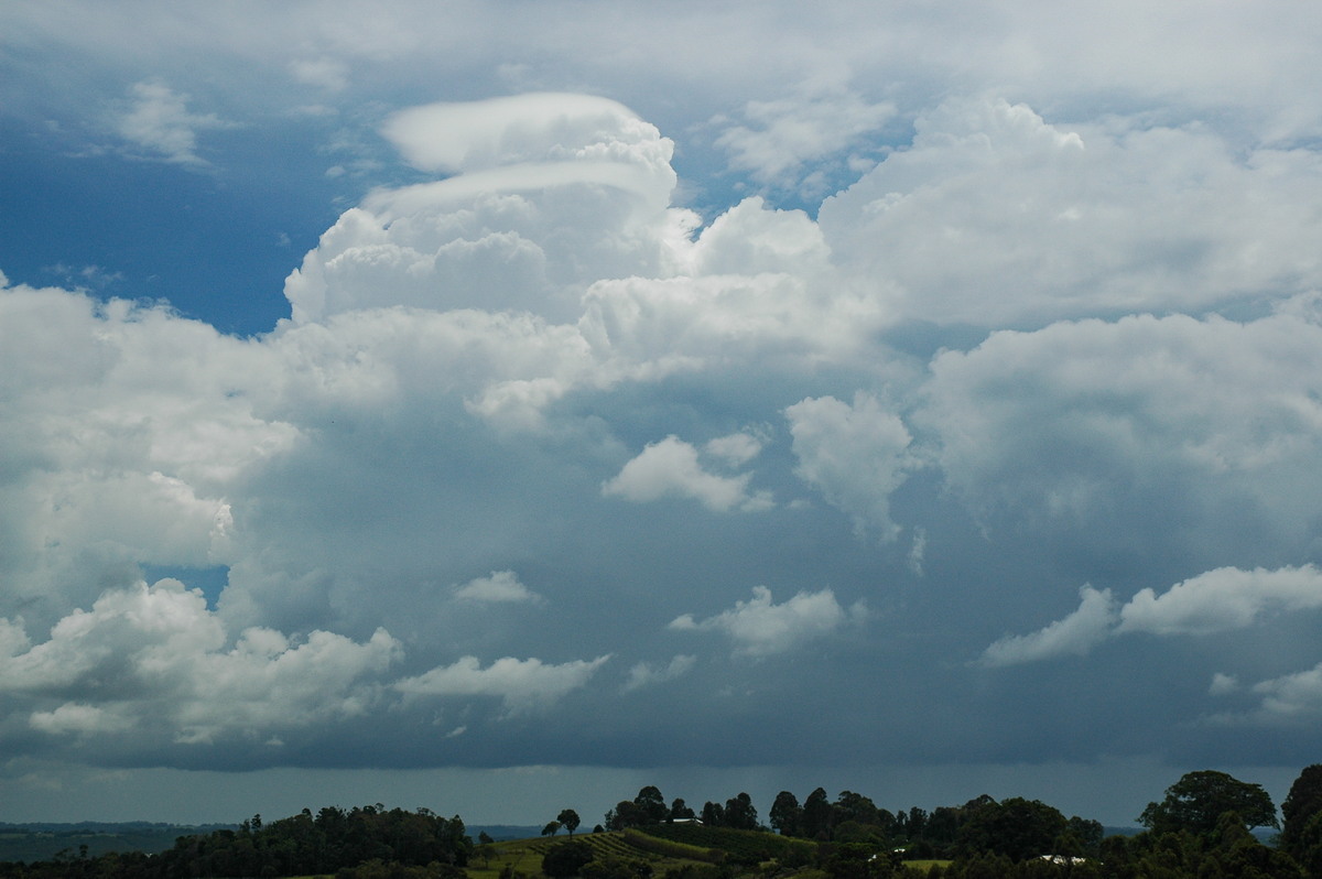
[(1216, 568), (1162, 595), (1142, 590), (1120, 611), (1118, 632), (1215, 634), (1243, 629), (1269, 613), (1322, 608), (1322, 571), (1311, 564), (1274, 571)]

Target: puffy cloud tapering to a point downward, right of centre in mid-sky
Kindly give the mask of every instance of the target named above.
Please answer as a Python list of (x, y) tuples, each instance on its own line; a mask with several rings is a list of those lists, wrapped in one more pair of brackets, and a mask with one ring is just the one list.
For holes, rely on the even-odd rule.
[(891, 521), (890, 496), (917, 467), (904, 422), (863, 393), (853, 404), (808, 398), (785, 408), (785, 418), (798, 476), (847, 513), (857, 533), (876, 529), (882, 539), (895, 539), (900, 529)]

